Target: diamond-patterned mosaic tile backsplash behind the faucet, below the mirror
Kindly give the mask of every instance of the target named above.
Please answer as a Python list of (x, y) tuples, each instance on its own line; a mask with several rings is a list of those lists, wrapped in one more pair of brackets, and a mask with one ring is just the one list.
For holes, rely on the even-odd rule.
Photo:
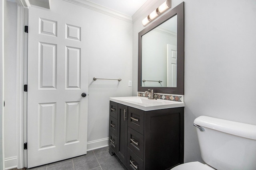
[[(145, 94), (144, 92), (138, 92), (138, 96), (140, 97), (146, 97), (150, 98), (150, 94)], [(155, 99), (163, 99), (163, 100), (172, 100), (176, 102), (184, 102), (184, 97), (183, 96), (174, 96), (172, 94), (161, 94), (161, 93), (154, 93), (154, 98)]]

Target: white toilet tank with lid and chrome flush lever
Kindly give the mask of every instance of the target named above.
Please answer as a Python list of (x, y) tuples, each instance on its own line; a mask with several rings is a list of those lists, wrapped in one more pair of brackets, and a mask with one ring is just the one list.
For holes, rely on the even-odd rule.
[(201, 156), (217, 170), (256, 170), (256, 125), (200, 116), (194, 124)]

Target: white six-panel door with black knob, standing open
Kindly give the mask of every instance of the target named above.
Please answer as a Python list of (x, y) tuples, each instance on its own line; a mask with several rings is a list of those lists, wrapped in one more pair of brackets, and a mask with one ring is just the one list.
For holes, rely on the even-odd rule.
[(28, 168), (86, 154), (86, 21), (29, 8)]

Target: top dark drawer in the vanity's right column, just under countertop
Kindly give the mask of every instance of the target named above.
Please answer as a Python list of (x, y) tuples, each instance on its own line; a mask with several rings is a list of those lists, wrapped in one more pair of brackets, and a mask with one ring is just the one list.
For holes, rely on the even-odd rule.
[(134, 107), (128, 108), (128, 127), (144, 134), (144, 111)]

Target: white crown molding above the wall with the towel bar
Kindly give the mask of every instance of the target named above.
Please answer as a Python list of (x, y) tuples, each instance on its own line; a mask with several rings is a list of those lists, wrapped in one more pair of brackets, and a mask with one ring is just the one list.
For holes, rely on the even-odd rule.
[(64, 1), (70, 2), (72, 4), (76, 4), (78, 6), (82, 6), (84, 8), (88, 8), (88, 9), (100, 12), (102, 14), (106, 14), (108, 16), (112, 16), (112, 17), (118, 18), (120, 20), (124, 20), (124, 21), (132, 23), (132, 17), (131, 16), (128, 16), (128, 15), (123, 14), (121, 12), (118, 12), (118, 11), (112, 10), (110, 8), (106, 8), (104, 6), (95, 4), (93, 2), (89, 2), (87, 0), (64, 0)]

